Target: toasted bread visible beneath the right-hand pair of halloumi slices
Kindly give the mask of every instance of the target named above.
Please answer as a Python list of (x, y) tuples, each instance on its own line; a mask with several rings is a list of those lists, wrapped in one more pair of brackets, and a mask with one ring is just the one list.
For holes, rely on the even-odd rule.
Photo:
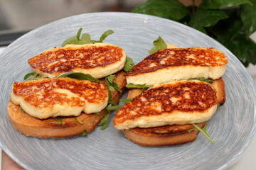
[[(222, 78), (210, 83), (217, 92), (218, 103), (225, 103), (225, 84)], [(141, 94), (141, 89), (132, 89), (127, 98), (135, 98)], [(200, 128), (206, 125), (206, 122), (196, 123)], [(154, 128), (132, 128), (123, 130), (124, 135), (134, 143), (143, 146), (162, 146), (162, 145), (181, 145), (196, 140), (198, 130), (188, 132), (193, 129), (193, 125), (164, 125)]]

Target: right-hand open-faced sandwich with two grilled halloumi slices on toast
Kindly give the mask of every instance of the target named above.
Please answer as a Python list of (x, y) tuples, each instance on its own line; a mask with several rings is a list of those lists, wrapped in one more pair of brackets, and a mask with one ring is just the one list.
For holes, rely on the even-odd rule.
[(214, 48), (152, 53), (127, 74), (127, 87), (137, 89), (129, 91), (127, 98), (132, 101), (117, 111), (115, 128), (144, 146), (196, 140), (198, 130), (206, 130), (208, 120), (225, 103), (221, 77), (227, 63), (223, 52)]

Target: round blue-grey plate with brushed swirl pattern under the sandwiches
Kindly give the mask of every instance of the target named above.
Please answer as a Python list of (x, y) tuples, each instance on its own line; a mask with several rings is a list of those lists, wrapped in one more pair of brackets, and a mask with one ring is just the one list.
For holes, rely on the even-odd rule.
[[(105, 42), (123, 47), (134, 62), (141, 61), (161, 36), (178, 47), (215, 47), (228, 56), (223, 77), (227, 101), (213, 115), (208, 133), (198, 140), (174, 147), (141, 147), (127, 140), (112, 125), (97, 128), (87, 137), (40, 139), (16, 132), (9, 123), (6, 106), (11, 84), (31, 72), (27, 60), (63, 40), (78, 28), (93, 40), (114, 30)], [(23, 35), (0, 55), (0, 146), (25, 169), (223, 169), (237, 159), (255, 134), (255, 87), (238, 59), (223, 45), (187, 26), (154, 16), (134, 13), (87, 13), (64, 18)]]

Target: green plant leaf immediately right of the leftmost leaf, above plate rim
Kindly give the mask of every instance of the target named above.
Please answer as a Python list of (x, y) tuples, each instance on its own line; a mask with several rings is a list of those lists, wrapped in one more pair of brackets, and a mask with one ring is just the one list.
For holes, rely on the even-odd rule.
[(192, 16), (189, 26), (206, 33), (204, 27), (215, 25), (221, 19), (227, 18), (228, 15), (220, 9), (203, 9), (197, 8), (196, 13)]

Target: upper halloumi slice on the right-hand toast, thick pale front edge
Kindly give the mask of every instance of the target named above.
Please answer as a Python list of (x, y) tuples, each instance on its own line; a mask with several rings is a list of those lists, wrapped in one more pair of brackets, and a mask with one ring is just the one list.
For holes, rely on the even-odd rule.
[(162, 84), (182, 79), (219, 79), (228, 59), (220, 50), (206, 47), (171, 48), (155, 52), (127, 74), (127, 83)]

